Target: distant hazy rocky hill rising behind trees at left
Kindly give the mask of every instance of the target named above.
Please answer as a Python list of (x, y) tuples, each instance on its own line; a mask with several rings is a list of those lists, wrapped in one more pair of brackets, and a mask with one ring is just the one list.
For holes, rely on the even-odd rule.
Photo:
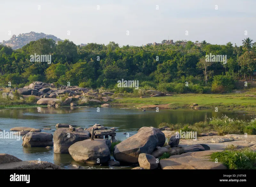
[(56, 42), (63, 41), (60, 38), (57, 38), (54, 35), (46, 35), (44, 33), (30, 32), (25, 34), (19, 34), (18, 36), (12, 35), (12, 38), (7, 41), (3, 41), (0, 44), (5, 44), (12, 47), (12, 49), (22, 48), (24, 45), (28, 44), (31, 41), (36, 41), (40, 38), (52, 39)]

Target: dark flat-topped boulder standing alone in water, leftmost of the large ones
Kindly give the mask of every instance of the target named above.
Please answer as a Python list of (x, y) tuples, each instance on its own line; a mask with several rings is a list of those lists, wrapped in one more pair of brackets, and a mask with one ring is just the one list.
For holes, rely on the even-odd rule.
[(52, 146), (52, 134), (45, 132), (29, 132), (22, 137), (22, 145), (25, 147), (46, 147)]

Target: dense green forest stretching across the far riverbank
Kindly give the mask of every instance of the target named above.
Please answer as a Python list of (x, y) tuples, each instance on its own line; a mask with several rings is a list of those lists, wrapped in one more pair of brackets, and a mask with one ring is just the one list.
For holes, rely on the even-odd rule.
[[(80, 47), (69, 40), (56, 44), (52, 39), (39, 39), (12, 50), (0, 45), (0, 86), (24, 87), (33, 81), (54, 82), (56, 86), (119, 89), (118, 80), (139, 80), (139, 87), (176, 93), (224, 92), (235, 88), (237, 80), (252, 80), (256, 69), (256, 43), (250, 38), (243, 46), (201, 46), (160, 44), (123, 46), (89, 43)], [(31, 62), (30, 55), (51, 55), (51, 64)], [(227, 55), (227, 63), (206, 62), (205, 55)], [(188, 82), (188, 85), (185, 85)]]

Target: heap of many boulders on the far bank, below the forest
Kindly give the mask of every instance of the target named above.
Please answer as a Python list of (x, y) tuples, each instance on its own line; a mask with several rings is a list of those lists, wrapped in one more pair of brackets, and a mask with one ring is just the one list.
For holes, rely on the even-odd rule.
[[(53, 83), (45, 83), (45, 82), (33, 82), (28, 86), (24, 86), (23, 88), (14, 88), (11, 89), (10, 92), (4, 92), (2, 95), (4, 98), (14, 97), (14, 92), (17, 92), (24, 97), (32, 95), (35, 96), (38, 100), (36, 104), (38, 105), (48, 105), (48, 106), (59, 106), (57, 96), (61, 96), (63, 94), (68, 94), (68, 97), (62, 101), (63, 105), (70, 105), (71, 107), (77, 106), (76, 103), (72, 101), (77, 101), (81, 99), (82, 96), (87, 96), (90, 98), (90, 104), (102, 104), (102, 102), (113, 101), (112, 95), (114, 93), (111, 92), (103, 92), (99, 93), (97, 90), (93, 90), (90, 92), (88, 88), (80, 88), (78, 86), (60, 86), (59, 88), (55, 88)], [(104, 103), (102, 107), (109, 107), (110, 105)]]

